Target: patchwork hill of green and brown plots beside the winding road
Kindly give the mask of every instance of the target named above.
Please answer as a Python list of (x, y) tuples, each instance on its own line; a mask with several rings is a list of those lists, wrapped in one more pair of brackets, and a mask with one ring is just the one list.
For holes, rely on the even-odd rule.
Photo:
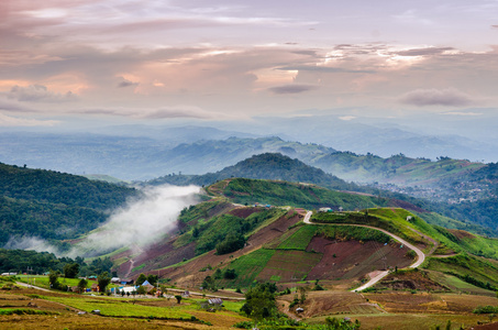
[[(421, 248), (427, 254), (420, 266), (424, 280), (441, 282), (446, 289), (476, 287), (489, 295), (498, 286), (498, 240), (441, 227), (462, 224), (453, 219), (390, 206), (387, 198), (287, 182), (230, 178), (206, 190), (214, 198), (185, 209), (179, 235), (167, 243), (170, 248), (145, 251), (135, 274), (161, 268), (162, 276), (178, 284), (231, 288), (258, 280), (285, 287), (303, 279), (354, 286), (372, 271), (413, 262), (410, 251), (390, 237), (355, 227), (367, 224)], [(344, 210), (314, 212), (312, 221), (319, 223), (313, 226), (300, 221), (300, 208), (321, 206)], [(231, 249), (224, 250), (226, 245)], [(167, 253), (145, 257), (157, 250)], [(202, 283), (208, 277), (212, 282)]]

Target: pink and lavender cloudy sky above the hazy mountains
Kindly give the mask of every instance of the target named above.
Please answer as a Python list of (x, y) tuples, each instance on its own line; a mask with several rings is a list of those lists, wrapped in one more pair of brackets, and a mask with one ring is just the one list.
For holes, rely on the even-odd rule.
[(495, 0), (2, 0), (0, 127), (478, 117), (497, 55)]

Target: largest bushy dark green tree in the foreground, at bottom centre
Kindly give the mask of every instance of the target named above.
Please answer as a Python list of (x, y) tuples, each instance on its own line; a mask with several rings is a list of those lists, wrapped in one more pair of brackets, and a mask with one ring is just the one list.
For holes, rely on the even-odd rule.
[[(275, 285), (275, 284), (274, 284)], [(270, 284), (258, 284), (245, 293), (241, 311), (254, 319), (266, 319), (276, 314), (275, 292)]]

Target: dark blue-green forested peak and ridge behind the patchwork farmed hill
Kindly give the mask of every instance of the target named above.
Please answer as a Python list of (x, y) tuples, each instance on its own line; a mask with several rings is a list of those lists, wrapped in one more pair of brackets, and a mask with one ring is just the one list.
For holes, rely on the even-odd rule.
[[(342, 155), (343, 156), (345, 155), (347, 157), (357, 157), (356, 155), (352, 155), (351, 153), (347, 154), (343, 153)], [(401, 166), (401, 164), (405, 163), (411, 164), (411, 162), (413, 161), (402, 155), (394, 156), (391, 158), (397, 160), (398, 164), (397, 166)], [(367, 155), (365, 156), (365, 160), (372, 160), (372, 162), (374, 162), (372, 165), (373, 168), (377, 168), (379, 164), (381, 164), (381, 158), (374, 155)], [(434, 162), (424, 160), (418, 160), (417, 162), (425, 164), (427, 167), (434, 167), (435, 166), (434, 164), (436, 164)], [(455, 162), (458, 161), (440, 160), (438, 163), (441, 163), (442, 167), (444, 166), (453, 167)], [(443, 164), (445, 165), (443, 166)], [(410, 167), (411, 165), (407, 166)], [(483, 167), (479, 170), (483, 172), (485, 168), (487, 168), (487, 166)], [(440, 166), (438, 165), (435, 167)], [(444, 173), (447, 173), (446, 169), (442, 170)], [(469, 173), (469, 170), (472, 169), (462, 170), (464, 172), (466, 170), (467, 175), (472, 176), (472, 173)], [(452, 179), (456, 179), (458, 173), (460, 175), (463, 175), (464, 172), (462, 173), (456, 172), (451, 174)], [(422, 170), (422, 173), (424, 172)], [(398, 189), (391, 191), (389, 190), (389, 186), (359, 186), (354, 183), (346, 183), (334, 175), (323, 172), (320, 168), (307, 165), (297, 158), (292, 160), (286, 155), (281, 155), (278, 153), (273, 154), (266, 153), (254, 155), (251, 158), (239, 162), (233, 166), (225, 167), (217, 173), (208, 173), (204, 175), (167, 175), (150, 180), (146, 184), (148, 185), (171, 184), (180, 186), (193, 184), (199, 186), (208, 186), (215, 182), (231, 177), (308, 183), (329, 189), (357, 191), (358, 194), (385, 196), (390, 198), (390, 202), (392, 205), (397, 205), (399, 207), (409, 208), (414, 211), (418, 211), (417, 209), (414, 209), (414, 207), (418, 207), (419, 209), (433, 210), (446, 217), (454, 218), (458, 221), (453, 222), (453, 224), (450, 227), (453, 229), (471, 230), (478, 234), (488, 235), (496, 235), (498, 229), (496, 226), (497, 213), (494, 211), (495, 210), (494, 206), (496, 205), (494, 204), (494, 201), (496, 200), (496, 198), (493, 197), (493, 195), (482, 200), (464, 201), (461, 204), (447, 204), (442, 201), (436, 202), (432, 198), (422, 197), (413, 198), (407, 194), (399, 193)], [(438, 191), (440, 195), (444, 194), (439, 189), (435, 188), (431, 189)], [(463, 194), (463, 189), (460, 190), (460, 194)]]

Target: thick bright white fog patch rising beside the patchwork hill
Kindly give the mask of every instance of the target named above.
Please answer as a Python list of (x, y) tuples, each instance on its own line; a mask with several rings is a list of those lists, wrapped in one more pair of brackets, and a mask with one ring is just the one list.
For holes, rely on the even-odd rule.
[(146, 246), (176, 229), (180, 211), (196, 204), (197, 186), (159, 186), (143, 190), (144, 197), (114, 211), (108, 222), (80, 241), (71, 256), (106, 253), (122, 246)]

